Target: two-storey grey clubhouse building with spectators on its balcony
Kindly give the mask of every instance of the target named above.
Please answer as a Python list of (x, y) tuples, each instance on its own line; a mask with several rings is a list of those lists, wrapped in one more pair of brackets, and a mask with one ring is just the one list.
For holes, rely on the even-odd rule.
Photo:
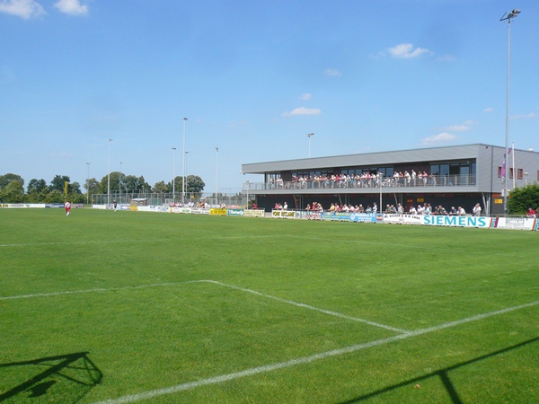
[(246, 181), (243, 193), (266, 211), (287, 203), (305, 209), (313, 202), (331, 204), (462, 206), (471, 213), (477, 203), (483, 215), (504, 214), (504, 192), (539, 181), (539, 153), (509, 149), (507, 186), (504, 184), (505, 147), (457, 145), (384, 153), (253, 162), (242, 164), (245, 174), (260, 174), (260, 182)]

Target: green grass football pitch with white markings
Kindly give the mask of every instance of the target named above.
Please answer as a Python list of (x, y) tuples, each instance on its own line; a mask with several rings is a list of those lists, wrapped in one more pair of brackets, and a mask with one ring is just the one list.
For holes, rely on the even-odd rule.
[(0, 402), (536, 403), (536, 232), (0, 210)]

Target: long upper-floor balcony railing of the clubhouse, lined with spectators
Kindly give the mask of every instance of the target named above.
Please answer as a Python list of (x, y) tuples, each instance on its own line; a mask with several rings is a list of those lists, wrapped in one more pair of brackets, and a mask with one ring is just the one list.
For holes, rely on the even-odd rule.
[(406, 177), (370, 177), (370, 178), (297, 178), (293, 180), (270, 180), (266, 183), (247, 182), (243, 189), (278, 190), (278, 189), (379, 189), (384, 188), (419, 188), (419, 187), (473, 187), (475, 175), (429, 175), (415, 179)]

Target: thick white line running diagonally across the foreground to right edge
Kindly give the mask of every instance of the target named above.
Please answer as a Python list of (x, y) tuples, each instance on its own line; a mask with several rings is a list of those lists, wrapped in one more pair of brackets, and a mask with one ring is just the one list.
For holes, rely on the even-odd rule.
[(539, 304), (539, 300), (535, 301), (535, 302), (531, 302), (531, 303), (521, 304), (521, 305), (518, 305), (518, 306), (508, 307), (506, 309), (502, 309), (502, 310), (499, 310), (499, 311), (496, 311), (496, 312), (486, 312), (486, 313), (479, 314), (479, 315), (476, 315), (476, 316), (473, 316), (473, 317), (468, 317), (466, 319), (447, 322), (446, 324), (440, 324), (440, 325), (437, 325), (437, 326), (434, 326), (434, 327), (429, 327), (428, 329), (417, 329), (415, 331), (411, 331), (411, 332), (401, 334), (401, 335), (397, 335), (397, 336), (390, 337), (390, 338), (377, 339), (375, 341), (365, 342), (363, 344), (353, 345), (351, 347), (344, 347), (344, 348), (340, 348), (340, 349), (334, 349), (334, 350), (331, 350), (331, 351), (326, 351), (326, 352), (323, 352), (323, 353), (320, 353), (320, 354), (315, 354), (315, 355), (312, 355), (312, 356), (304, 356), (304, 357), (300, 357), (300, 358), (297, 358), (297, 359), (292, 359), (292, 360), (285, 361), (285, 362), (279, 362), (277, 364), (266, 364), (266, 365), (263, 365), (263, 366), (253, 367), (251, 369), (246, 369), (246, 370), (243, 370), (241, 372), (223, 374), (221, 376), (210, 377), (208, 379), (202, 379), (202, 380), (199, 380), (199, 381), (196, 381), (196, 382), (187, 382), (187, 383), (177, 384), (177, 385), (171, 386), (171, 387), (165, 387), (163, 389), (145, 391), (145, 392), (141, 392), (141, 393), (138, 393), (138, 394), (130, 394), (130, 395), (127, 395), (127, 396), (119, 397), (117, 399), (99, 401), (99, 402), (96, 402), (94, 404), (120, 404), (120, 403), (124, 403), (124, 402), (134, 402), (134, 401), (139, 401), (139, 400), (150, 400), (150, 399), (153, 399), (155, 397), (163, 396), (165, 394), (173, 394), (173, 393), (177, 393), (177, 392), (180, 392), (180, 391), (196, 389), (198, 387), (207, 386), (207, 385), (210, 385), (210, 384), (228, 382), (228, 381), (231, 381), (231, 380), (234, 380), (234, 379), (241, 379), (243, 377), (252, 376), (254, 374), (268, 373), (268, 372), (275, 371), (275, 370), (278, 370), (278, 369), (284, 369), (284, 368), (287, 368), (287, 367), (296, 366), (298, 364), (309, 364), (311, 362), (322, 360), (322, 359), (332, 357), (332, 356), (341, 356), (341, 355), (350, 354), (350, 353), (353, 353), (353, 352), (358, 352), (358, 351), (360, 351), (362, 349), (367, 349), (369, 347), (379, 347), (379, 346), (382, 346), (382, 345), (385, 345), (385, 344), (389, 344), (390, 342), (395, 342), (395, 341), (399, 341), (399, 340), (406, 339), (406, 338), (411, 338), (411, 337), (417, 337), (417, 336), (420, 336), (420, 335), (423, 335), (423, 334), (428, 334), (430, 332), (438, 331), (440, 329), (448, 329), (448, 328), (451, 328), (451, 327), (456, 327), (456, 326), (464, 324), (466, 322), (480, 321), (482, 319), (486, 319), (488, 317), (496, 316), (496, 315), (499, 315), (499, 314), (505, 314), (505, 313), (508, 313), (508, 312), (515, 312), (517, 310), (524, 309), (526, 307), (532, 307), (532, 306), (535, 306), (537, 304)]

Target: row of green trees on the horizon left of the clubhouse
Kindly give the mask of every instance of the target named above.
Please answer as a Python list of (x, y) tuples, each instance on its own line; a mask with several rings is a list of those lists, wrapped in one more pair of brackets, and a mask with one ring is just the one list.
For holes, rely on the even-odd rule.
[[(65, 183), (67, 182), (67, 195)], [(78, 182), (71, 182), (68, 175), (56, 175), (49, 184), (43, 179), (31, 179), (24, 189), (25, 181), (18, 174), (0, 175), (0, 203), (62, 203), (69, 199), (72, 203), (84, 203), (87, 197), (94, 194), (107, 194), (109, 177), (105, 175), (101, 181), (91, 178), (85, 181), (85, 193)], [(144, 176), (125, 175), (122, 172), (110, 172), (110, 194), (120, 191), (125, 193), (180, 193), (183, 177), (178, 176), (168, 183), (163, 180), (150, 186)], [(206, 184), (198, 175), (189, 175), (185, 179), (188, 193), (201, 192)]]

